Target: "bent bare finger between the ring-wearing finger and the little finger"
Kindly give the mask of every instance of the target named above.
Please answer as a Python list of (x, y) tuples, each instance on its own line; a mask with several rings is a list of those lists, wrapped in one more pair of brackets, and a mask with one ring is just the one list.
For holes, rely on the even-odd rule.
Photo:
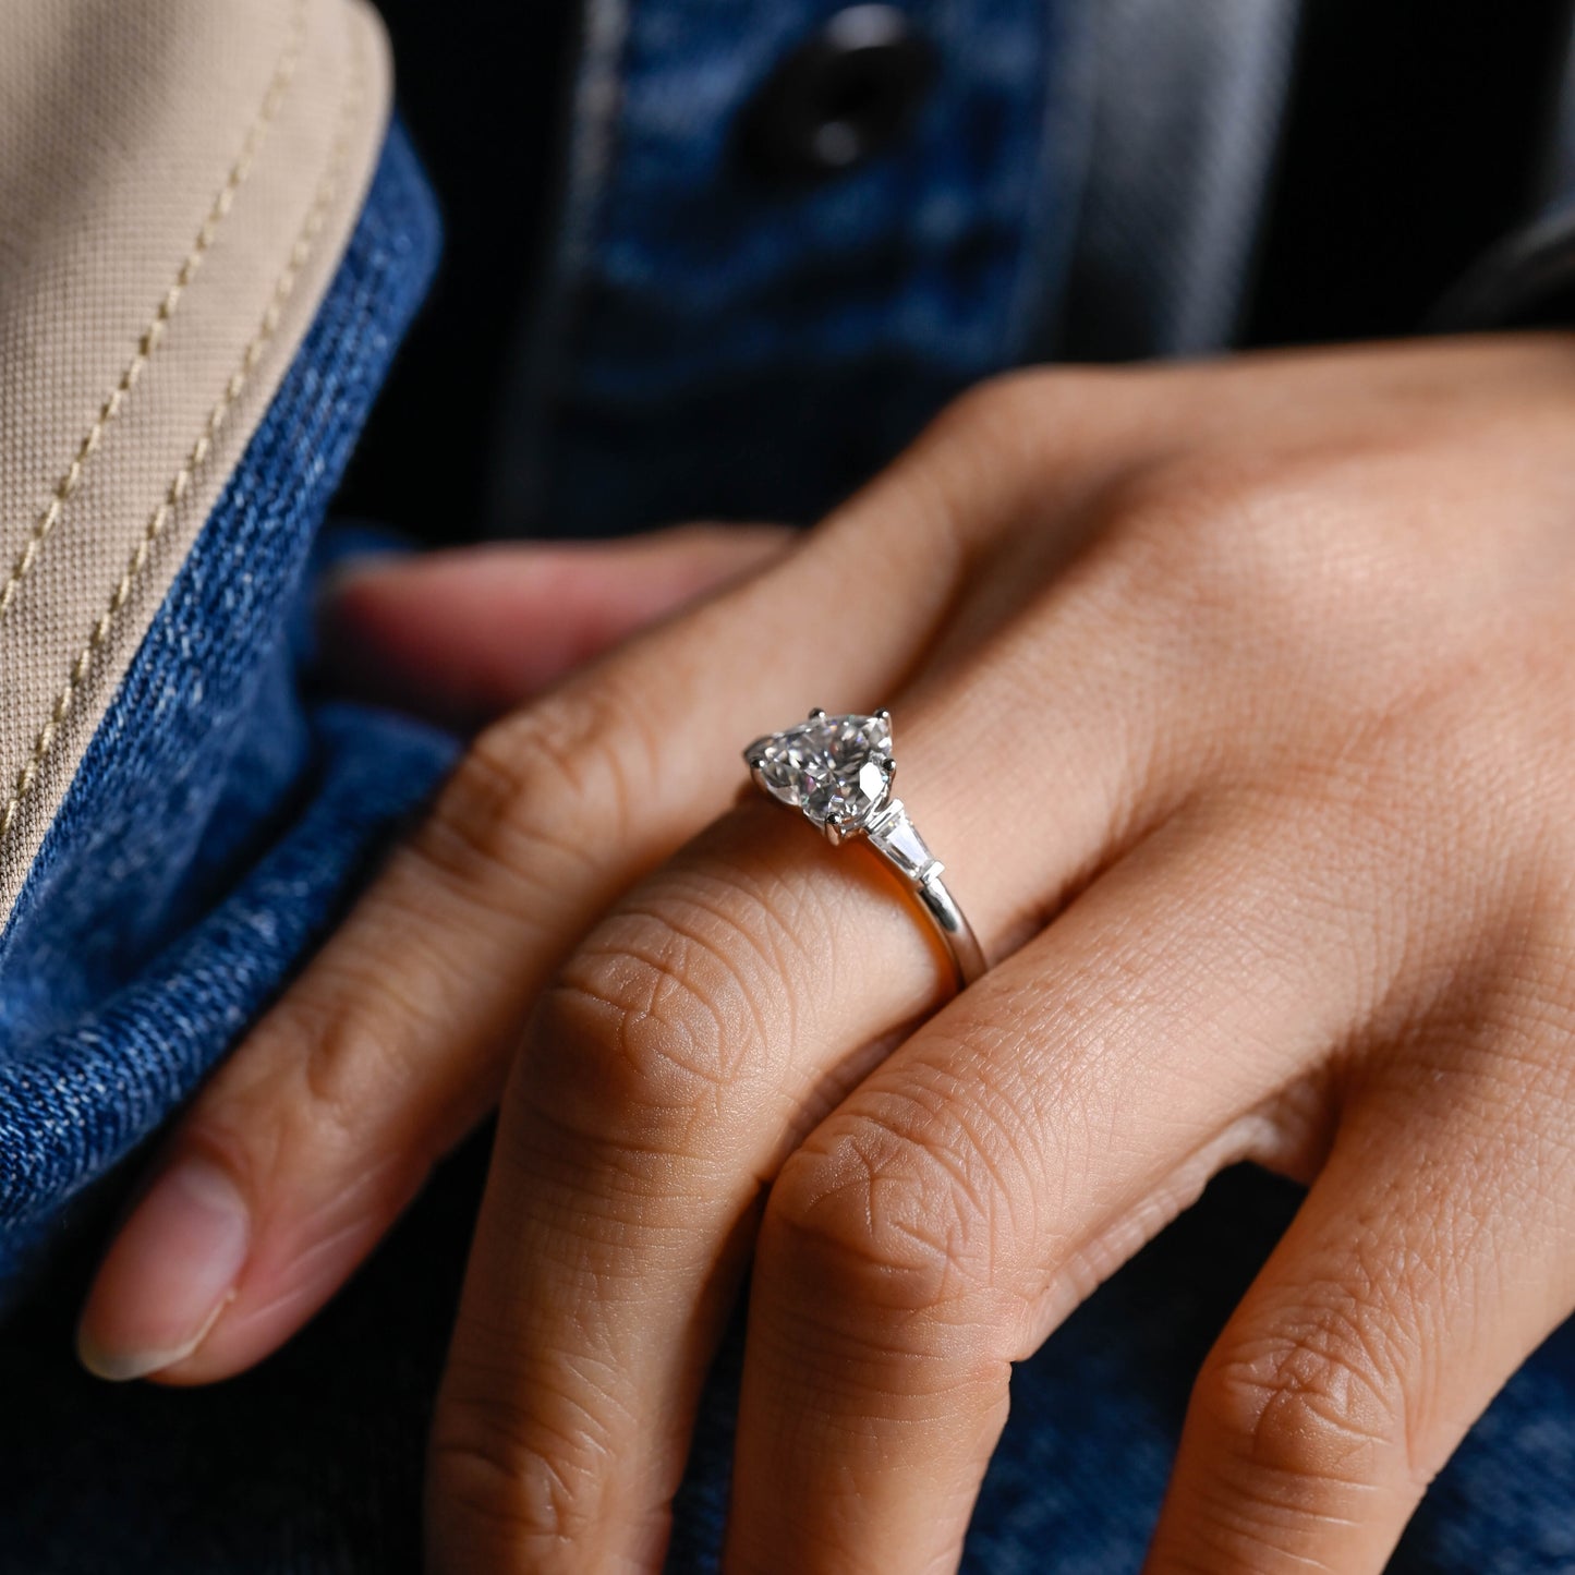
[(1320, 1148), (1301, 1079), (1366, 999), (1348, 909), (1309, 890), (1310, 832), (1219, 821), (1147, 838), (784, 1166), (731, 1575), (954, 1569), (1011, 1364), (1216, 1170)]

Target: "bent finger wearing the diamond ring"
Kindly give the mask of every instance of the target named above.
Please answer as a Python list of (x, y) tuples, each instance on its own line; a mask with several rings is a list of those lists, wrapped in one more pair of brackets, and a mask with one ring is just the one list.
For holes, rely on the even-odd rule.
[[(1195, 759), (1156, 743), (1134, 677), (1151, 671), (1143, 627), (1096, 638), (1106, 616), (1088, 584), (1052, 584), (976, 662), (893, 704), (899, 792), (994, 954), (1192, 783)], [(1025, 729), (1033, 671), (1077, 684), (1035, 695)], [(1002, 813), (1016, 803), (1054, 813)], [(543, 997), (506, 1098), (433, 1435), (439, 1569), (660, 1556), (762, 1186), (945, 983), (868, 858), (748, 802), (632, 891)], [(1243, 857), (1232, 876), (1251, 866)]]

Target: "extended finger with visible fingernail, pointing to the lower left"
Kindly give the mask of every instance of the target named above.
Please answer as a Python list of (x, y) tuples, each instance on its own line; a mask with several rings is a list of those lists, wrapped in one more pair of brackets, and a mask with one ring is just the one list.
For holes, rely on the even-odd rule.
[[(1071, 387), (1065, 403), (1068, 474), (1125, 452), (1114, 421), (1093, 422)], [(1054, 466), (1030, 488), (995, 463), (1006, 441), (994, 416), (953, 417), (767, 572), (477, 740), (176, 1129), (83, 1312), (101, 1372), (225, 1377), (332, 1293), (495, 1102), (526, 1010), (575, 937), (736, 792), (739, 740), (806, 695), (828, 699), (827, 674), (847, 704), (888, 695), (988, 534), (1021, 518), (1046, 471), (1054, 487)], [(839, 586), (880, 597), (844, 602), (828, 594)], [(209, 1206), (184, 1210), (191, 1197)]]

